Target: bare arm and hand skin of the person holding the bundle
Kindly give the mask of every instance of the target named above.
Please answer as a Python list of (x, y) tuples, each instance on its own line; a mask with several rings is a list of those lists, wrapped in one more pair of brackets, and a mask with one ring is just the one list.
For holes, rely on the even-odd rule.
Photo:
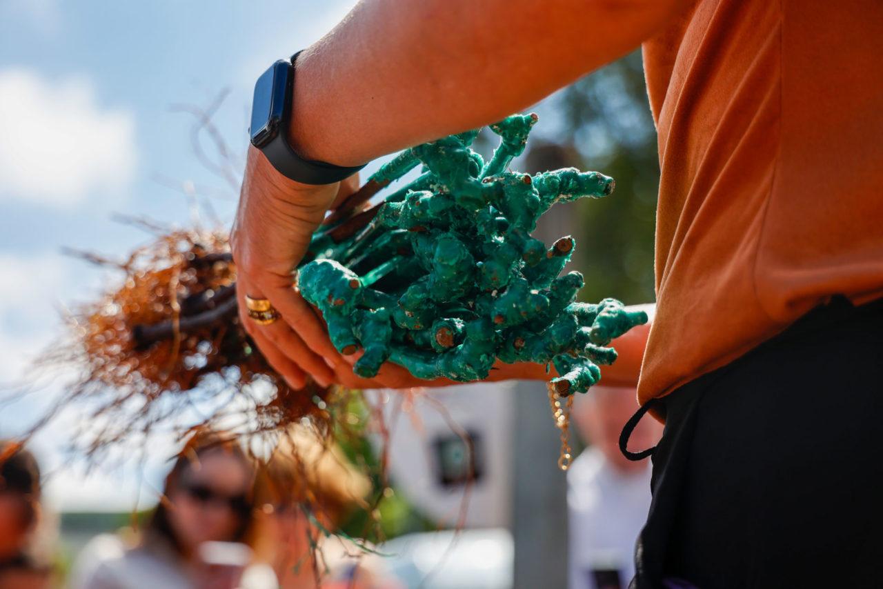
[[(478, 10), (472, 0), (421, 0), (406, 8), (396, 0), (363, 0), (298, 57), (289, 140), (307, 159), (358, 165), (494, 123), (637, 48), (683, 4), (487, 0)], [(295, 388), (307, 375), (361, 388), (448, 384), (419, 381), (389, 363), (374, 379), (353, 377), (355, 359), (341, 357), (321, 318), (291, 288), (291, 269), (313, 230), (357, 185), (358, 178), (323, 186), (293, 182), (250, 148), (230, 236), (246, 329)], [(246, 294), (268, 298), (283, 321), (254, 324), (245, 313)], [(540, 366), (499, 366), (491, 380), (538, 376), (547, 379)]]

